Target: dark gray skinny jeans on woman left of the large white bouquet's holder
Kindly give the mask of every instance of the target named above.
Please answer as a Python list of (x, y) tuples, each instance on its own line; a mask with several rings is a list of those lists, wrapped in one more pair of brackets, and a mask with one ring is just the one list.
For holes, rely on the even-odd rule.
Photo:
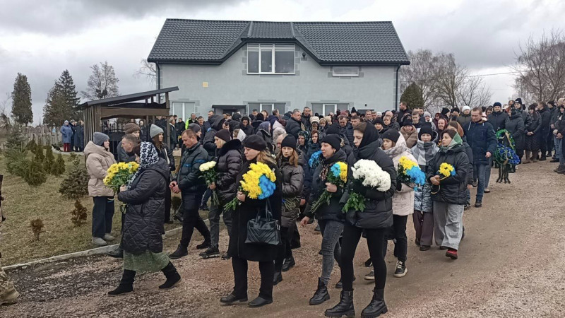
[(322, 274), (321, 280), (328, 285), (331, 271), (333, 270), (333, 259), (340, 265), (341, 247), (340, 236), (343, 232), (343, 223), (334, 220), (318, 220), (322, 233)]

